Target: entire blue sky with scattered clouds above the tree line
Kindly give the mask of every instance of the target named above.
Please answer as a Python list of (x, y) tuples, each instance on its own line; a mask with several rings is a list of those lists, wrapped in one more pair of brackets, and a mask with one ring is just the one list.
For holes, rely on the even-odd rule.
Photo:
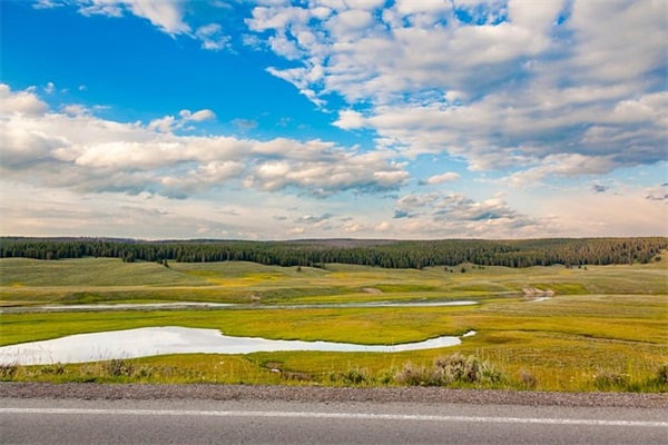
[(668, 236), (668, 2), (0, 0), (2, 236)]

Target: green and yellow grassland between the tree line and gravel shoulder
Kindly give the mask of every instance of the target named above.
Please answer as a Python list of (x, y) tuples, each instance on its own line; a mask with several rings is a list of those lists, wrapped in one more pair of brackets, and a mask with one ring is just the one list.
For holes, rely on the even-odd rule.
[[(668, 255), (662, 255), (664, 258)], [(462, 273), (462, 267), (465, 273)], [(523, 288), (551, 289), (532, 301)], [(307, 307), (362, 301), (474, 299), (461, 307)], [(122, 363), (26, 366), (14, 380), (397, 384), (406, 364), (430, 366), (461, 353), (499, 368), (491, 387), (543, 390), (668, 390), (668, 264), (511, 269), (382, 269), (327, 265), (282, 268), (248, 263), (127, 264), (118, 259), (0, 260), (0, 305), (144, 301), (247, 303), (234, 310), (112, 310), (0, 314), (9, 345), (145, 326), (216, 328), (226, 335), (358, 344), (477, 335), (462, 345), (411, 353), (257, 353), (179, 355)], [(269, 306), (263, 310), (254, 307)], [(274, 372), (272, 372), (274, 369)], [(279, 369), (281, 373), (275, 370)]]

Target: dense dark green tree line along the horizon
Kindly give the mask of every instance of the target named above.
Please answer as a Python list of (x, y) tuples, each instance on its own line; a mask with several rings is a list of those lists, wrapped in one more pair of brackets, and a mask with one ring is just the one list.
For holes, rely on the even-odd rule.
[(323, 267), (342, 263), (385, 268), (423, 268), (473, 263), (530, 267), (648, 263), (668, 248), (666, 237), (549, 238), (525, 240), (298, 240), (140, 241), (116, 238), (0, 238), (0, 258), (111, 257), (125, 261), (253, 261)]

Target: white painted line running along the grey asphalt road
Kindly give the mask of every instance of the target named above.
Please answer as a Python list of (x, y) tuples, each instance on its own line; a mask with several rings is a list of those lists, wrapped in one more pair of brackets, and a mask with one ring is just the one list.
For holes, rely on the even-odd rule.
[(127, 415), (127, 416), (203, 416), (203, 417), (297, 417), (338, 418), (353, 421), (428, 421), (428, 422), (473, 422), (497, 424), (542, 424), (584, 426), (632, 426), (668, 428), (668, 422), (601, 421), (586, 418), (543, 417), (479, 417), (479, 416), (434, 416), (403, 414), (365, 413), (307, 413), (277, 411), (189, 411), (189, 409), (82, 409), (82, 408), (0, 408), (0, 414), (75, 414), (75, 415)]

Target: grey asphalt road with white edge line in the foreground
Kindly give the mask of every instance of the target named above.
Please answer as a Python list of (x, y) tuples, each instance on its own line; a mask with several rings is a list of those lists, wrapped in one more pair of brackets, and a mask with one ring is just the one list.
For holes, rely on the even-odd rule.
[(2, 444), (666, 444), (662, 407), (0, 398)]

